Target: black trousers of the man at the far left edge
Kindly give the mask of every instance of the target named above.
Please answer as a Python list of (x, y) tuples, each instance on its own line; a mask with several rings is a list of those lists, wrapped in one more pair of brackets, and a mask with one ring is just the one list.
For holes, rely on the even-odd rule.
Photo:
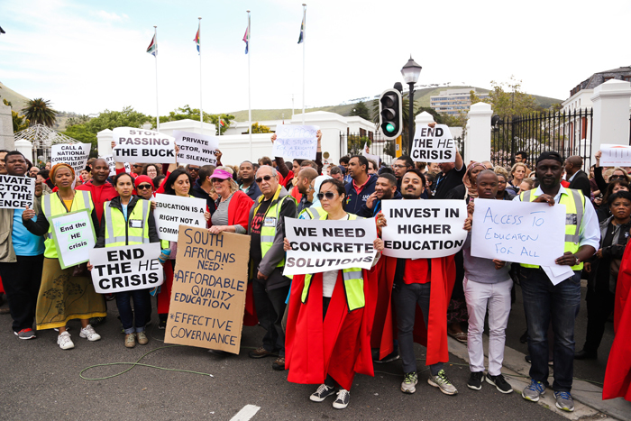
[(14, 332), (31, 329), (35, 321), (44, 255), (17, 256), (14, 263), (0, 262), (0, 276), (14, 319)]

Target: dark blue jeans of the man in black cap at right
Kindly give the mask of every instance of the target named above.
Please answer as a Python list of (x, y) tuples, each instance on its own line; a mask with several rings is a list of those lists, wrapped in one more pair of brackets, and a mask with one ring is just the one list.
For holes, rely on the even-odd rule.
[(554, 333), (553, 389), (569, 392), (574, 375), (574, 321), (581, 305), (581, 271), (554, 286), (544, 270), (521, 268), (521, 288), (528, 325), (530, 377), (548, 386), (548, 325)]

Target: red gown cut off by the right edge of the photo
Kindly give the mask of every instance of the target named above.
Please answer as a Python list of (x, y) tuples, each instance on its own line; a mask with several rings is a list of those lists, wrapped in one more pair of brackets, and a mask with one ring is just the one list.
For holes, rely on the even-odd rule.
[(631, 247), (626, 247), (617, 275), (614, 334), (602, 398), (631, 401)]

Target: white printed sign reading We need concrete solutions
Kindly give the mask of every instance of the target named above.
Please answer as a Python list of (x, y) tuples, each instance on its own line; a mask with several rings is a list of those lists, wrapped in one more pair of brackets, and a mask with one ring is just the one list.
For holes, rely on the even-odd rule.
[(377, 228), (372, 218), (352, 221), (285, 218), (291, 245), (283, 275), (302, 275), (349, 268), (370, 269)]

